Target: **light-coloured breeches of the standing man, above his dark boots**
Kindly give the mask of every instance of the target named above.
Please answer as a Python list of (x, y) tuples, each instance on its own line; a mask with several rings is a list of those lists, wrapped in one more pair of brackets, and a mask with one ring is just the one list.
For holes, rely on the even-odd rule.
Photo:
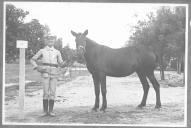
[(54, 100), (56, 96), (57, 78), (43, 78), (43, 99)]

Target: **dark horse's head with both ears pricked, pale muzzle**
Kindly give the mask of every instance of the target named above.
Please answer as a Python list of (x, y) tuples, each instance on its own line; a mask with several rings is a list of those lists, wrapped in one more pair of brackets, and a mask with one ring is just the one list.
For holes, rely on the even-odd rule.
[(77, 52), (85, 52), (86, 47), (86, 35), (88, 34), (88, 30), (86, 30), (84, 33), (76, 33), (74, 31), (71, 31), (72, 35), (76, 37), (76, 49)]

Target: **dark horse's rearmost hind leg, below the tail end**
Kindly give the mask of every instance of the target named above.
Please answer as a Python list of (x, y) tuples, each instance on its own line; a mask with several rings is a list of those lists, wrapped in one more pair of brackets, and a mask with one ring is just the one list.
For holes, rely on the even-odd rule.
[(153, 88), (156, 92), (156, 106), (155, 108), (160, 108), (161, 107), (161, 101), (160, 101), (160, 85), (158, 83), (158, 81), (156, 80), (155, 76), (154, 76), (154, 71), (150, 72), (147, 77), (149, 78), (149, 80), (151, 81)]

